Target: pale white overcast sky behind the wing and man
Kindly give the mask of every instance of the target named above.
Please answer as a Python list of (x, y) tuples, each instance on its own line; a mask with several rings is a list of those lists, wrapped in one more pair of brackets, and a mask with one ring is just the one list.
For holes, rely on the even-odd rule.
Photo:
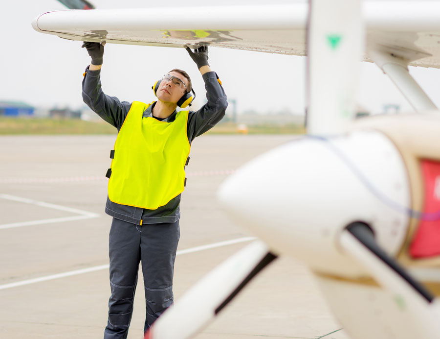
[[(196, 0), (91, 0), (96, 8), (136, 8), (146, 6), (209, 5)], [(262, 1), (253, 4), (291, 3), (290, 0)], [(248, 4), (243, 0), (223, 0), (222, 4)], [(214, 4), (214, 3), (212, 3)], [(66, 9), (56, 0), (3, 1), (0, 11), (1, 81), (0, 100), (22, 100), (37, 106), (79, 108), (83, 72), (90, 59), (81, 42), (38, 33), (31, 27), (37, 15)], [(197, 18), (195, 18), (197, 20)], [(226, 94), (237, 100), (239, 113), (246, 110), (276, 112), (289, 108), (301, 113), (305, 107), (306, 58), (226, 48), (210, 48), (209, 62), (222, 80)], [(329, 65), (330, 67), (330, 65)], [(186, 70), (203, 103), (204, 87), (197, 66), (180, 48), (158, 48), (107, 44), (102, 69), (103, 90), (121, 100), (153, 101), (152, 84), (173, 68)], [(410, 68), (411, 74), (431, 99), (440, 105), (440, 71)], [(373, 113), (384, 104), (399, 104), (404, 111), (411, 106), (391, 81), (374, 64), (362, 63), (358, 102)], [(197, 103), (196, 107), (197, 108)]]

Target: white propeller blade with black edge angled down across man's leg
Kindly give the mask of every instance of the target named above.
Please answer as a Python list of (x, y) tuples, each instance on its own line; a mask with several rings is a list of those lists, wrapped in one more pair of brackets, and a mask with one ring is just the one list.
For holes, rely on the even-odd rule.
[(276, 255), (256, 241), (224, 261), (167, 309), (145, 339), (185, 339), (196, 334), (271, 263)]

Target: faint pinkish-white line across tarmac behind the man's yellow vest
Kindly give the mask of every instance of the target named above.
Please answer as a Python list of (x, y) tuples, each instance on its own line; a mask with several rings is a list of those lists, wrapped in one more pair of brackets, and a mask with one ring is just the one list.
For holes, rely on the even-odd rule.
[[(236, 170), (204, 170), (198, 172), (188, 172), (186, 176), (215, 176), (229, 175)], [(38, 184), (38, 183), (63, 183), (63, 182), (80, 182), (80, 181), (104, 181), (108, 180), (105, 176), (71, 176), (60, 178), (0, 178), (0, 184)]]

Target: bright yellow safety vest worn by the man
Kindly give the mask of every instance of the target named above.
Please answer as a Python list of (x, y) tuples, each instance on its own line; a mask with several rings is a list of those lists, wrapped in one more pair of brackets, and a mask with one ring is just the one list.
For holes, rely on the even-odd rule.
[(109, 199), (155, 210), (183, 192), (190, 152), (188, 111), (173, 122), (142, 114), (151, 104), (134, 101), (114, 144)]

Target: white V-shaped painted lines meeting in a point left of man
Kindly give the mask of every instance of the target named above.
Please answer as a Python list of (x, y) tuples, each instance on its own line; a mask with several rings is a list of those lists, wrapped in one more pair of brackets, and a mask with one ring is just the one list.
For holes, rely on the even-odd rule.
[(50, 219), (40, 219), (40, 220), (31, 220), (31, 221), (12, 222), (12, 223), (7, 223), (7, 224), (1, 224), (0, 225), (0, 230), (7, 229), (7, 228), (22, 227), (22, 226), (42, 225), (42, 224), (48, 224), (48, 223), (54, 223), (54, 222), (65, 222), (65, 221), (90, 219), (90, 218), (97, 218), (97, 217), (99, 217), (99, 214), (91, 213), (91, 212), (88, 212), (88, 211), (79, 210), (77, 208), (72, 208), (72, 207), (67, 207), (67, 206), (51, 204), (51, 203), (44, 202), (44, 201), (23, 198), (23, 197), (20, 197), (20, 196), (15, 196), (15, 195), (10, 195), (10, 194), (0, 194), (0, 198), (1, 199), (12, 200), (12, 201), (17, 201), (17, 202), (22, 202), (22, 203), (25, 203), (25, 204), (36, 205), (36, 206), (45, 207), (45, 208), (51, 208), (51, 209), (58, 210), (58, 211), (64, 211), (64, 212), (79, 214), (79, 216), (62, 217), (62, 218), (50, 218)]

